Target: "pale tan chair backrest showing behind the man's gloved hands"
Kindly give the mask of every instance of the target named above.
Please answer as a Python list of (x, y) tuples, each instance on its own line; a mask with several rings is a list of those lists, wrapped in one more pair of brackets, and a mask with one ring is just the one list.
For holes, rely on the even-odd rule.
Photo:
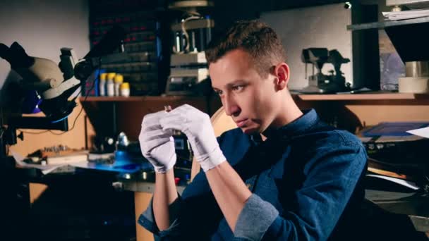
[[(226, 130), (231, 130), (237, 127), (236, 123), (232, 121), (231, 116), (226, 116), (223, 106), (219, 108), (210, 119), (212, 120), (214, 135), (216, 135), (217, 137), (223, 132), (226, 132)], [(193, 178), (195, 177), (195, 175), (198, 174), (199, 171), (200, 164), (198, 163), (198, 161), (193, 159), (191, 168), (191, 180), (193, 180)]]

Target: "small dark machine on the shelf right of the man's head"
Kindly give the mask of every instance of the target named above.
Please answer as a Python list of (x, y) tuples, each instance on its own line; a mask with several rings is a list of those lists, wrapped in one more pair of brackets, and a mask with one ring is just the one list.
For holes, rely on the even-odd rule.
[[(346, 85), (344, 73), (341, 71), (343, 63), (349, 63), (349, 58), (343, 58), (337, 49), (328, 51), (326, 48), (309, 48), (303, 49), (301, 60), (306, 63), (306, 78), (307, 64), (313, 65), (313, 75), (308, 77), (308, 87), (301, 89), (300, 92), (307, 94), (333, 94), (350, 90), (350, 85)], [(330, 75), (322, 73), (322, 68), (325, 63), (331, 63), (334, 70), (330, 70)], [(314, 68), (317, 73), (314, 73)]]

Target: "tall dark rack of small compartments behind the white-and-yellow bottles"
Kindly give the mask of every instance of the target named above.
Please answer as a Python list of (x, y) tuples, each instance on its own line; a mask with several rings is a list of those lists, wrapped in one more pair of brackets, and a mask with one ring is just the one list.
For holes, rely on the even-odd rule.
[[(159, 75), (163, 73), (159, 70), (162, 31), (157, 15), (160, 11), (164, 11), (164, 4), (159, 1), (90, 1), (89, 37), (92, 47), (116, 25), (126, 32), (124, 53), (118, 58), (104, 58), (101, 69), (123, 75), (123, 81), (130, 83), (131, 93), (135, 95), (159, 94), (159, 80), (164, 79)], [(88, 88), (93, 81), (87, 81)], [(95, 89), (92, 96), (97, 95)]]

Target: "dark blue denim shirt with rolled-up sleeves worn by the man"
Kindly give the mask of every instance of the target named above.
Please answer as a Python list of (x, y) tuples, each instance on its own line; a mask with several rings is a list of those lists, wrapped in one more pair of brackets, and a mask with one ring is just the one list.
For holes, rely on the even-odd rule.
[(253, 193), (231, 230), (201, 171), (171, 204), (167, 230), (155, 224), (152, 202), (138, 223), (155, 240), (348, 240), (365, 191), (366, 152), (355, 135), (322, 123), (314, 110), (260, 135), (239, 128), (218, 137), (227, 161)]

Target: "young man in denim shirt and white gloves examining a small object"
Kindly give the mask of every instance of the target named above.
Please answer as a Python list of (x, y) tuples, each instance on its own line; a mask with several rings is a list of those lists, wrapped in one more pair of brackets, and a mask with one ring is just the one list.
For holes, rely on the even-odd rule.
[[(350, 240), (362, 232), (351, 223), (364, 199), (365, 149), (314, 110), (298, 109), (274, 30), (237, 22), (206, 57), (212, 87), (238, 128), (216, 139), (209, 116), (188, 105), (145, 116), (139, 140), (156, 183), (140, 225), (167, 240)], [(204, 171), (181, 197), (174, 129), (186, 134)]]

